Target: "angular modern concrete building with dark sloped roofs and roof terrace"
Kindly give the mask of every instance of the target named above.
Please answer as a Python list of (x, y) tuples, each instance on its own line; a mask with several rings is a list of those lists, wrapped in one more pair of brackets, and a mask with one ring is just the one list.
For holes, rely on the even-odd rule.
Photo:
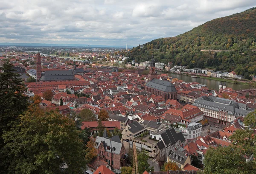
[(176, 133), (173, 128), (160, 129), (151, 133), (147, 129), (149, 128), (140, 125), (137, 121), (128, 124), (122, 131), (125, 148), (132, 149), (135, 143), (139, 151), (144, 149), (155, 160), (165, 161), (170, 150), (185, 142), (182, 132)]

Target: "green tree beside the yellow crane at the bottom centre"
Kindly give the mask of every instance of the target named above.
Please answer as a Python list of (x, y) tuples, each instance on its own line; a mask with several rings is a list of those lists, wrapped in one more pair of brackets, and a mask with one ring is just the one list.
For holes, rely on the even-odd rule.
[(154, 167), (149, 167), (148, 158), (148, 152), (144, 150), (137, 155), (139, 174), (143, 174), (144, 171), (154, 171)]

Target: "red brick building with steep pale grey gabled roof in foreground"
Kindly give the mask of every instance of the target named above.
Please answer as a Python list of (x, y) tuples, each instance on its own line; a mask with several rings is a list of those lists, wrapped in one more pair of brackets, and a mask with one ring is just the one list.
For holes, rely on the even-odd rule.
[(118, 135), (108, 138), (105, 129), (102, 137), (96, 137), (95, 148), (98, 153), (98, 160), (106, 161), (114, 169), (126, 166), (125, 146)]

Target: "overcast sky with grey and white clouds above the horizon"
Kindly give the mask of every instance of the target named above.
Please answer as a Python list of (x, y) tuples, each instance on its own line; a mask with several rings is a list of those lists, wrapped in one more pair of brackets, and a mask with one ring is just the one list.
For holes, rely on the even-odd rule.
[(139, 45), (256, 0), (0, 0), (0, 42)]

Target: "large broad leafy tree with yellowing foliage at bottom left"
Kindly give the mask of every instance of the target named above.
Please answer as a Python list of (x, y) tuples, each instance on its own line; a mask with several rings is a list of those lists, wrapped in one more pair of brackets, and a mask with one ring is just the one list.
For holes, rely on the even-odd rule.
[(38, 106), (19, 118), (3, 135), (8, 173), (82, 173), (85, 151), (74, 121)]

